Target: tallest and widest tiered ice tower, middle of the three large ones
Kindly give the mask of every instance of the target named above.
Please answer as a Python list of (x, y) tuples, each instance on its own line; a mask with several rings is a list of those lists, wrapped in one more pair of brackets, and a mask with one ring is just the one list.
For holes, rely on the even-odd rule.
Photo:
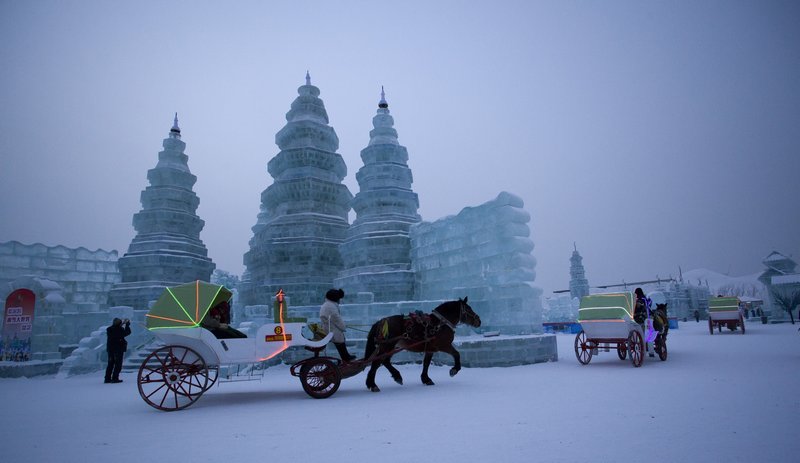
[(283, 288), (292, 305), (322, 302), (342, 270), (339, 245), (347, 233), (353, 195), (342, 180), (347, 166), (328, 125), (319, 89), (306, 83), (275, 135), (280, 152), (267, 164), (274, 178), (261, 193), (261, 212), (239, 288), (243, 305), (269, 304)]

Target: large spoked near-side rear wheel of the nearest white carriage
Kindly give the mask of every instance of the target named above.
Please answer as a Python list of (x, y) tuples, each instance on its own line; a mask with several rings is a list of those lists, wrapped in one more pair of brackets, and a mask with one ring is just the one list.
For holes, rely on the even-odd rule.
[(148, 355), (139, 367), (139, 395), (158, 410), (180, 410), (195, 403), (211, 387), (209, 376), (205, 360), (196, 351), (165, 346)]

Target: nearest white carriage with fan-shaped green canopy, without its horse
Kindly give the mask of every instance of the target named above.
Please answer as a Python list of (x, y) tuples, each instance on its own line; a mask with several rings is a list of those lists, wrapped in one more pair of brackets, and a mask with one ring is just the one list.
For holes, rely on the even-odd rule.
[(341, 377), (335, 359), (319, 356), (330, 333), (308, 339), (305, 323), (279, 322), (262, 325), (253, 337), (221, 339), (201, 327), (209, 310), (230, 298), (224, 286), (202, 281), (164, 290), (147, 314), (146, 326), (165, 346), (145, 358), (137, 377), (139, 394), (148, 405), (164, 411), (186, 408), (216, 382), (220, 367), (258, 364), (291, 346), (314, 353), (292, 366), (306, 393), (325, 398), (336, 392)]

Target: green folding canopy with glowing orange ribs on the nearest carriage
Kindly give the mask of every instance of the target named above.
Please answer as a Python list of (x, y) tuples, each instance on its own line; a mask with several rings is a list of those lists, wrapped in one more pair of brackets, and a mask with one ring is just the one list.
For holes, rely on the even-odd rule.
[(229, 301), (233, 295), (221, 285), (194, 281), (164, 289), (145, 316), (147, 329), (194, 328), (211, 307)]

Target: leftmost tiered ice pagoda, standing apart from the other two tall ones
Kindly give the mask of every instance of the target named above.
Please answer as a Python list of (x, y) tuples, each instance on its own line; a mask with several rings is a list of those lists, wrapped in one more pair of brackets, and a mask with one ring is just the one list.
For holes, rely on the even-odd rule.
[(192, 190), (197, 177), (189, 171), (178, 115), (147, 172), (142, 209), (133, 216), (136, 236), (117, 262), (121, 282), (109, 293), (110, 305), (147, 309), (166, 286), (209, 280), (216, 267), (200, 240), (205, 222), (197, 216), (200, 199)]

